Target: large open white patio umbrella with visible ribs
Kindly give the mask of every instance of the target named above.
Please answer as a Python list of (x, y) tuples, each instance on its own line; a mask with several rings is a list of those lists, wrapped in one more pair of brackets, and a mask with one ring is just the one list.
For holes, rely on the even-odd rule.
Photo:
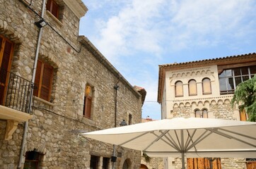
[(256, 158), (256, 123), (213, 118), (173, 118), (82, 134), (143, 151), (148, 156)]

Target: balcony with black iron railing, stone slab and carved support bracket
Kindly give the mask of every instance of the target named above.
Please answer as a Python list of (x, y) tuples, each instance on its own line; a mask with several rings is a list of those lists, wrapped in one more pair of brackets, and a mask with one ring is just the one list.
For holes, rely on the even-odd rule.
[(7, 120), (6, 137), (11, 139), (18, 123), (32, 118), (33, 83), (0, 68), (0, 119)]

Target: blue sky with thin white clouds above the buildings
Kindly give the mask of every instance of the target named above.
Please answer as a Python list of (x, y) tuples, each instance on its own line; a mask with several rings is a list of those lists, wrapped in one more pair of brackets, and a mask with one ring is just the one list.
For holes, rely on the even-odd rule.
[(255, 0), (82, 0), (80, 35), (132, 86), (147, 92), (142, 118), (161, 119), (158, 65), (256, 51)]

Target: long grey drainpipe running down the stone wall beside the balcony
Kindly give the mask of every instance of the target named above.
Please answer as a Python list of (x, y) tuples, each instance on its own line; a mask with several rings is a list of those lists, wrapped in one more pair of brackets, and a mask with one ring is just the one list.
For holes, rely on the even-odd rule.
[[(44, 17), (44, 14), (45, 14), (45, 2), (46, 2), (46, 0), (42, 1), (42, 13), (41, 13), (42, 18)], [(31, 81), (32, 84), (34, 84), (34, 82), (35, 82), (35, 72), (36, 72), (36, 68), (37, 68), (37, 60), (38, 60), (38, 55), (39, 55), (41, 37), (42, 37), (42, 27), (39, 28), (39, 33), (38, 33), (38, 38), (37, 38), (37, 49), (35, 51), (35, 61), (34, 61), (33, 76), (32, 76), (32, 81)], [(29, 102), (29, 106), (28, 106), (28, 112), (30, 112), (30, 110), (32, 108), (32, 98), (33, 98), (33, 87), (31, 89), (31, 93), (30, 93), (30, 102)], [(25, 121), (23, 139), (22, 139), (22, 144), (21, 144), (21, 153), (20, 153), (20, 158), (18, 161), (18, 169), (21, 168), (21, 163), (23, 161), (23, 153), (24, 153), (24, 149), (25, 149), (25, 140), (27, 138), (27, 132), (28, 132), (28, 121)]]

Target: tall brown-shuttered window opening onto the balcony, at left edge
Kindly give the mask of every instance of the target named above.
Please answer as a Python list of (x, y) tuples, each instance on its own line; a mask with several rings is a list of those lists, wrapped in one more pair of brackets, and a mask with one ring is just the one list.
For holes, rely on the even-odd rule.
[(11, 70), (13, 42), (0, 35), (0, 105), (4, 104), (4, 96), (8, 85), (7, 71)]

